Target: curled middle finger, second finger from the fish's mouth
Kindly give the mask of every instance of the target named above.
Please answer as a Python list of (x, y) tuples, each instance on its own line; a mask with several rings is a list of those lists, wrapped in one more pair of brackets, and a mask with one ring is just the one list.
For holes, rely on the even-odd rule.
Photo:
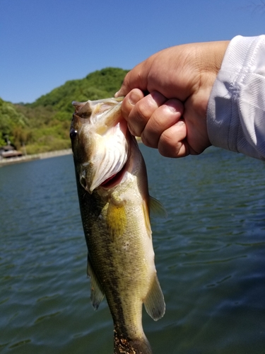
[[(165, 101), (167, 101), (167, 98), (165, 98), (165, 96), (158, 91), (153, 91), (138, 101), (136, 105), (131, 108), (131, 112), (127, 118), (128, 127), (131, 134), (136, 137), (141, 137), (141, 133), (143, 132), (149, 118), (151, 118), (153, 112), (160, 107), (160, 105), (163, 105)], [(126, 102), (124, 103), (124, 109), (128, 110), (129, 108), (127, 104), (130, 104), (129, 98)]]

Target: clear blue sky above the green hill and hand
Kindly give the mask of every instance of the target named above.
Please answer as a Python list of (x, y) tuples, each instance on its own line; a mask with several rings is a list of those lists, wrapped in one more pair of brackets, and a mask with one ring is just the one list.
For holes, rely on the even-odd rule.
[(0, 97), (33, 102), (165, 47), (264, 33), (264, 0), (0, 0)]

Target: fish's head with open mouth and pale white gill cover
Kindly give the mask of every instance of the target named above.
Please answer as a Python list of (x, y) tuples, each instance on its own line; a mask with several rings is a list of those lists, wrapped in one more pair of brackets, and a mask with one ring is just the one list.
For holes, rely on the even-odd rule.
[(79, 181), (88, 193), (122, 170), (128, 159), (127, 125), (122, 98), (73, 102), (70, 128), (73, 159)]

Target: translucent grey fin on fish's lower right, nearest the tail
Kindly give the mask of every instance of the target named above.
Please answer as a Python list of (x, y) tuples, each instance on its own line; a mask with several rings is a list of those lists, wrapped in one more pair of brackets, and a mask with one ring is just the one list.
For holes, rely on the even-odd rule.
[(155, 274), (153, 278), (153, 283), (151, 288), (146, 296), (146, 299), (143, 301), (146, 312), (153, 320), (158, 321), (165, 314), (165, 301), (163, 292), (161, 290), (158, 276)]

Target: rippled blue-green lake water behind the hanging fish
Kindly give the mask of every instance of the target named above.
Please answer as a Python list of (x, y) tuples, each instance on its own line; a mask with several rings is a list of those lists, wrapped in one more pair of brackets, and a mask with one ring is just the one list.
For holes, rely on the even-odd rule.
[[(166, 313), (153, 354), (265, 353), (265, 164), (211, 148), (165, 159), (141, 145)], [(72, 156), (0, 168), (0, 353), (111, 354), (105, 300), (90, 304)]]

